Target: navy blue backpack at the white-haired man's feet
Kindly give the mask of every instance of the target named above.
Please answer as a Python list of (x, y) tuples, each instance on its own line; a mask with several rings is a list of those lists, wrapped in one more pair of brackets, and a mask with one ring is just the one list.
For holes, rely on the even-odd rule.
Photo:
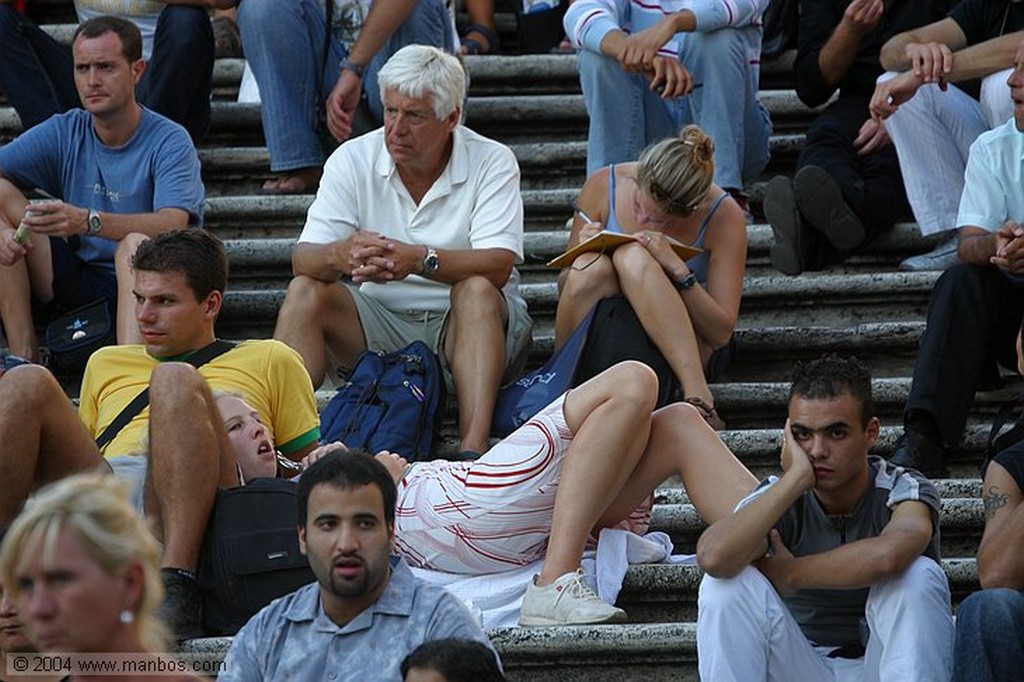
[(422, 341), (390, 353), (367, 350), (321, 415), (321, 440), (340, 440), (410, 462), (428, 457), (439, 430), (440, 364)]

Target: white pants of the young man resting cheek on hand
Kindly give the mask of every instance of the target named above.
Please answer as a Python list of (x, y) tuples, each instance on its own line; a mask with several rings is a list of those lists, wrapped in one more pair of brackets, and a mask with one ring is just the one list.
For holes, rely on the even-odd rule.
[(944, 682), (953, 670), (949, 584), (919, 557), (899, 578), (871, 587), (870, 638), (862, 658), (828, 658), (813, 646), (760, 570), (706, 576), (697, 600), (697, 659), (708, 682)]

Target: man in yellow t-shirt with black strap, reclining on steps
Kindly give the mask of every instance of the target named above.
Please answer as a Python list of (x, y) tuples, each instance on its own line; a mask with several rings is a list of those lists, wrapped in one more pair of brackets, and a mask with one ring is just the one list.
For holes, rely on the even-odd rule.
[[(139, 246), (132, 267), (143, 344), (93, 354), (77, 415), (45, 369), (0, 375), (0, 527), (38, 486), (113, 470), (163, 543), (164, 615), (184, 639), (201, 634), (195, 570), (214, 496), (239, 484), (211, 389), (245, 396), (295, 460), (316, 445), (319, 423), (309, 375), (283, 343), (246, 341), (199, 369), (187, 364), (215, 341), (227, 282), (216, 238), (202, 229), (161, 235)], [(148, 406), (100, 453), (95, 439), (146, 387)]]

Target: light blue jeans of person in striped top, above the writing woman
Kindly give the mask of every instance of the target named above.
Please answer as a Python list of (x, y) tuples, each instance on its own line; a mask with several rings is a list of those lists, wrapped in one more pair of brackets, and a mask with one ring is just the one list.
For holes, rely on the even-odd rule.
[[(693, 91), (675, 101), (650, 90), (603, 54), (578, 54), (580, 82), (590, 115), (587, 173), (636, 161), (643, 148), (695, 123), (715, 141), (715, 182), (740, 188), (768, 164), (771, 120), (758, 98), (760, 28), (686, 34), (680, 60)], [(742, 92), (738, 97), (736, 91)]]

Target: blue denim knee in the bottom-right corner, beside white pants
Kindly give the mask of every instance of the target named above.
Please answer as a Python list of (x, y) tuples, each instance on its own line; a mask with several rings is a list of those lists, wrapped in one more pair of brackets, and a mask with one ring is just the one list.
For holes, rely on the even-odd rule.
[(964, 600), (956, 614), (954, 682), (1001, 682), (1024, 671), (1024, 594), (992, 588)]

